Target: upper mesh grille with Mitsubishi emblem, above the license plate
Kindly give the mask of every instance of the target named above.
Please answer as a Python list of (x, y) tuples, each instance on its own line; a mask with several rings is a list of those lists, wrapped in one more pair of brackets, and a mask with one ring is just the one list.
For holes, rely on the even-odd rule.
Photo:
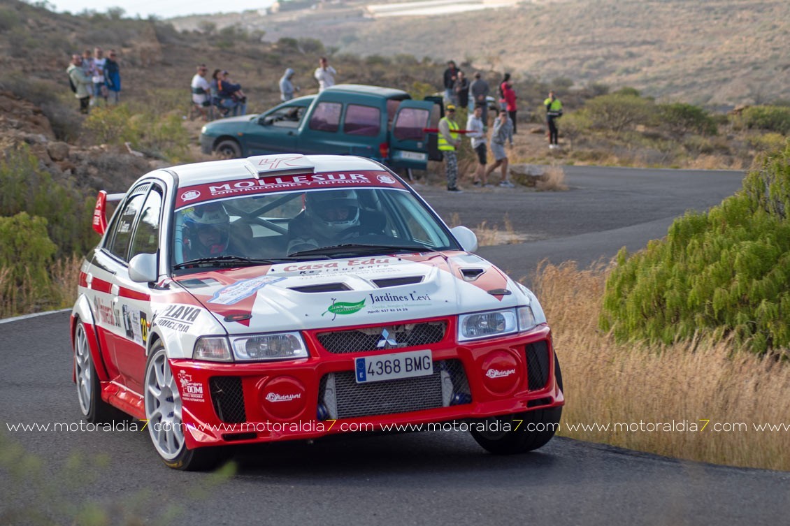
[[(435, 344), (444, 338), (446, 330), (446, 321), (424, 321), (318, 333), (317, 337), (327, 351), (343, 354)], [(385, 331), (387, 335), (382, 337)]]

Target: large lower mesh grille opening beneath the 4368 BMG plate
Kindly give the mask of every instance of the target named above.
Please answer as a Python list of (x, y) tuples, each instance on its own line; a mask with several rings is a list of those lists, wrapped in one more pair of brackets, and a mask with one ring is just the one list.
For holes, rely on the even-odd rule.
[(318, 389), (319, 419), (390, 415), (472, 401), (461, 360), (434, 362), (431, 376), (358, 384), (353, 371), (326, 374)]

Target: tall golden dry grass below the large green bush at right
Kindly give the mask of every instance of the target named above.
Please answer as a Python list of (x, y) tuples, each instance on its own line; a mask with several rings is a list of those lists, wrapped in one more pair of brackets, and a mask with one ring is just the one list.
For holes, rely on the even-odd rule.
[[(736, 351), (728, 341), (615, 344), (596, 327), (605, 276), (601, 267), (579, 271), (570, 262), (541, 265), (533, 281), (562, 364), (568, 400), (562, 434), (690, 460), (790, 470), (788, 430), (754, 427), (790, 424), (787, 361)], [(661, 429), (655, 424), (673, 420), (687, 430), (649, 430), (649, 423)], [(613, 429), (640, 421), (643, 430)], [(574, 423), (610, 429), (569, 430)], [(697, 430), (689, 431), (692, 426)]]

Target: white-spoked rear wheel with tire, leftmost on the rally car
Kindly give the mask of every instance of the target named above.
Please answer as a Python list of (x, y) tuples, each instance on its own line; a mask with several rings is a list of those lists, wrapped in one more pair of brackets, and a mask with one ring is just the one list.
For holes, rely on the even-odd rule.
[(77, 380), (77, 400), (88, 423), (106, 423), (112, 419), (113, 409), (101, 399), (101, 383), (93, 365), (91, 346), (85, 324), (77, 322), (74, 333), (74, 371)]

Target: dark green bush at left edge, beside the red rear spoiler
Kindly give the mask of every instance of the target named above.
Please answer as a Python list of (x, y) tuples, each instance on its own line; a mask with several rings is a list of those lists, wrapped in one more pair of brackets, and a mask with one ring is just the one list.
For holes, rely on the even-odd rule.
[[(27, 147), (9, 152), (0, 160), (0, 216), (27, 212), (43, 217), (49, 239), (57, 242), (57, 256), (85, 254), (96, 244), (91, 227), (92, 202), (81, 190), (54, 182), (39, 167)], [(3, 245), (3, 250), (9, 250)], [(17, 257), (23, 257), (17, 254)]]

